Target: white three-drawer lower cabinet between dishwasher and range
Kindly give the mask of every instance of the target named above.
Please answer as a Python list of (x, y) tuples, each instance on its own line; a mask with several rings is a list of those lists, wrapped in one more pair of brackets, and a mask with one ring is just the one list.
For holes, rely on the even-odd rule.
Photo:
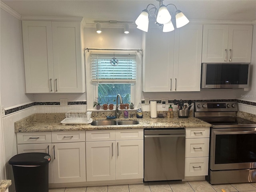
[(186, 128), (185, 177), (208, 174), (210, 128)]

